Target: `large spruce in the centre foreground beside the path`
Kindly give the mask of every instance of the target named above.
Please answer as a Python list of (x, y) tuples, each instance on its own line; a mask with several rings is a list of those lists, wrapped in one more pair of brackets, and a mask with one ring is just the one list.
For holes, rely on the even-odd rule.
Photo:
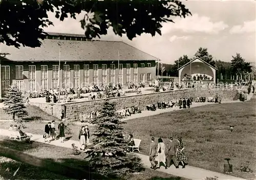
[(141, 160), (127, 154), (127, 142), (123, 138), (124, 122), (116, 114), (115, 104), (105, 100), (99, 116), (92, 122), (96, 125), (93, 148), (87, 151), (86, 159), (92, 170), (108, 178), (122, 178), (129, 173), (144, 170)]

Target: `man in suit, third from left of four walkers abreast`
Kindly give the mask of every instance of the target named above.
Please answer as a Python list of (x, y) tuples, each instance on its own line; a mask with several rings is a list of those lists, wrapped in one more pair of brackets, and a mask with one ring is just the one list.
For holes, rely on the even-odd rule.
[(173, 160), (174, 165), (176, 168), (179, 168), (179, 162), (177, 160), (176, 157), (176, 153), (177, 153), (177, 145), (176, 143), (173, 141), (173, 138), (170, 137), (169, 138), (170, 144), (168, 147), (168, 154), (167, 154), (167, 158), (166, 158), (166, 167), (170, 167), (170, 163)]

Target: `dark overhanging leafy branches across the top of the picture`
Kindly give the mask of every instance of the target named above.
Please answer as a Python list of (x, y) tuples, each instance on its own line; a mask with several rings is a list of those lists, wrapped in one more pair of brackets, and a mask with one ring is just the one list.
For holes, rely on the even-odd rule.
[(162, 22), (173, 22), (174, 16), (191, 14), (178, 0), (2, 0), (0, 42), (16, 48), (20, 44), (39, 47), (38, 38), (44, 39), (46, 34), (42, 28), (53, 25), (48, 19), (49, 11), (55, 12), (61, 21), (68, 16), (76, 19), (77, 14), (84, 13), (80, 22), (88, 38), (105, 35), (112, 27), (115, 34), (126, 34), (131, 40), (142, 33), (161, 35)]

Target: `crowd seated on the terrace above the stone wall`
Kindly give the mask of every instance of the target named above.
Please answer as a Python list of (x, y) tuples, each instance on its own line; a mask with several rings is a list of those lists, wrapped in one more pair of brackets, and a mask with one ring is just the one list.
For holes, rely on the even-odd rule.
[[(205, 78), (205, 75), (200, 75), (198, 77)], [(202, 80), (195, 82), (182, 81), (181, 84), (178, 82), (166, 82), (160, 85), (159, 80), (148, 82), (148, 87), (151, 87), (153, 92), (165, 92), (172, 91), (173, 89), (183, 89), (183, 88), (211, 88), (211, 87), (233, 87), (240, 85), (248, 85), (249, 81), (239, 81), (234, 84), (214, 84), (214, 83), (204, 83)], [(128, 88), (136, 88), (137, 94), (142, 94), (141, 88), (145, 87), (143, 82), (140, 83), (129, 83)], [(131, 93), (131, 92), (128, 92)], [(135, 93), (135, 92), (134, 92)], [(125, 96), (125, 91), (123, 90), (122, 84), (111, 83), (109, 85), (93, 85), (85, 87), (72, 87), (69, 89), (49, 89), (49, 91), (33, 91), (27, 93), (27, 102), (29, 98), (39, 98), (45, 97), (48, 103), (60, 103), (60, 102), (72, 102), (74, 99), (80, 99), (87, 97), (88, 100), (95, 100), (101, 98), (111, 98), (111, 97), (121, 97)], [(199, 101), (199, 100), (198, 100)]]

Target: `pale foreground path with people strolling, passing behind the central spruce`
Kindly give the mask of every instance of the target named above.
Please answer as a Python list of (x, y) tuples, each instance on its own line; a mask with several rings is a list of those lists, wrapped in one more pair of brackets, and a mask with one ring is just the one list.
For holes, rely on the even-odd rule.
[[(8, 136), (9, 132), (7, 129), (0, 129), (0, 136)], [(42, 138), (42, 135), (38, 135), (38, 134), (31, 134), (31, 133), (27, 133), (28, 135), (32, 135), (33, 137), (31, 138), (32, 141), (35, 142), (40, 142), (40, 143), (46, 143), (44, 138)], [(65, 147), (65, 148), (72, 148), (71, 145), (75, 144), (76, 146), (80, 146), (78, 141), (74, 141), (74, 140), (67, 140), (64, 143), (60, 143), (59, 140), (55, 140), (52, 141), (51, 143), (47, 143), (47, 144), (51, 144), (51, 145), (55, 145), (55, 146), (60, 146), (60, 147)], [(150, 168), (151, 164), (149, 162), (149, 157), (147, 155), (143, 155), (143, 154), (137, 154), (138, 156), (140, 156), (144, 166), (146, 168)], [(219, 180), (227, 180), (227, 179), (232, 179), (232, 180), (245, 180), (239, 177), (234, 177), (234, 176), (230, 176), (230, 175), (226, 175), (226, 174), (222, 174), (222, 173), (218, 173), (218, 172), (214, 172), (214, 171), (209, 171), (209, 170), (205, 170), (205, 169), (201, 169), (201, 168), (196, 168), (196, 167), (192, 167), (192, 166), (186, 166), (185, 169), (176, 169), (174, 166), (171, 166), (168, 169), (165, 169), (164, 167), (161, 167), (160, 169), (157, 169), (157, 171), (161, 171), (161, 172), (165, 172), (167, 174), (172, 174), (175, 176), (179, 176), (179, 177), (184, 177), (184, 178), (188, 178), (188, 179), (193, 179), (193, 180), (203, 180), (206, 177), (214, 177), (214, 176), (218, 176)]]

